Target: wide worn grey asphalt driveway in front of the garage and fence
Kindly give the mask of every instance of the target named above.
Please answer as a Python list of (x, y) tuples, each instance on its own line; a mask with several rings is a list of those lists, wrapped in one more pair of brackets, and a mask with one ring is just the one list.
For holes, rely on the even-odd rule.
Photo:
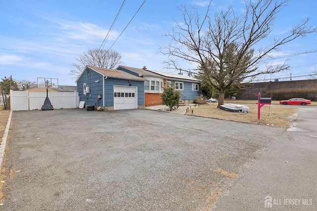
[(16, 111), (1, 210), (208, 210), (284, 131), (146, 109)]

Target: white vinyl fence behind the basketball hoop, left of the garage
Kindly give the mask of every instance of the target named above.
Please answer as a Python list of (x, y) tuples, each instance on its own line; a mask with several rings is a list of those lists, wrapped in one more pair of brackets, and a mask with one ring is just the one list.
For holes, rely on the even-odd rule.
[[(54, 109), (79, 106), (78, 92), (49, 92), (48, 97)], [(43, 92), (10, 91), (11, 110), (41, 110), (45, 98)]]

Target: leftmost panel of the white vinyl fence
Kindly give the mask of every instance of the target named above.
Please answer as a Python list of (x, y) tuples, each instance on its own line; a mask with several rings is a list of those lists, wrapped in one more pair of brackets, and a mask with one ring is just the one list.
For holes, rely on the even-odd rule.
[(11, 110), (29, 110), (28, 91), (10, 90)]

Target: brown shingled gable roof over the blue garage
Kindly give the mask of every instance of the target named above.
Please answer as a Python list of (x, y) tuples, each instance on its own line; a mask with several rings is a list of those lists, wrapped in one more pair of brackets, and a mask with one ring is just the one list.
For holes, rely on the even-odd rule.
[[(112, 70), (112, 69), (107, 69), (107, 68), (102, 68), (102, 67), (95, 67), (95, 66), (86, 66), (85, 70), (87, 68), (90, 68), (90, 69), (102, 74), (104, 77), (107, 76), (109, 78), (144, 81), (143, 78), (135, 76), (135, 75), (132, 75), (132, 74), (127, 73), (127, 72), (122, 71), (122, 70)], [(83, 72), (80, 74), (80, 76), (83, 74)], [(80, 76), (78, 76), (77, 80), (79, 79)], [(76, 82), (77, 82), (77, 80), (76, 80)]]

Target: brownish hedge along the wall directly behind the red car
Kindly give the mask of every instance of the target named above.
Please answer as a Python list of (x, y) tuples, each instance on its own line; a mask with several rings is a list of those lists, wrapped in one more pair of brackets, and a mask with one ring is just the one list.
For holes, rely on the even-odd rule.
[(274, 101), (288, 100), (290, 98), (305, 98), (311, 101), (317, 101), (317, 88), (267, 90), (265, 97), (270, 97)]

